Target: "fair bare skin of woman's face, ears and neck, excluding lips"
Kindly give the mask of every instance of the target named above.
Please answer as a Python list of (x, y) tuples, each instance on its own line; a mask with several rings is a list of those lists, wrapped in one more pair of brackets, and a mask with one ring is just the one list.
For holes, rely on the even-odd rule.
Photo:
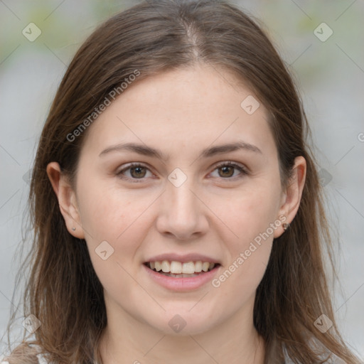
[[(234, 79), (226, 70), (196, 65), (134, 82), (87, 130), (74, 189), (57, 163), (48, 165), (68, 231), (86, 240), (104, 287), (104, 363), (263, 363), (264, 341), (253, 325), (255, 290), (282, 225), (220, 287), (209, 282), (170, 291), (141, 265), (165, 252), (196, 252), (220, 261), (219, 277), (279, 216), (285, 223), (294, 219), (306, 161), (296, 158), (283, 191), (267, 110), (261, 103), (247, 114), (240, 104), (253, 94)], [(240, 149), (198, 158), (205, 148), (238, 140), (262, 153)], [(100, 156), (122, 142), (146, 144), (168, 159), (133, 151)], [(217, 168), (228, 161), (249, 174)], [(125, 170), (129, 179), (122, 179), (117, 173), (129, 162), (149, 169), (139, 179)], [(174, 168), (187, 176), (179, 187), (168, 181)], [(107, 260), (95, 253), (105, 240), (114, 249)], [(179, 333), (168, 326), (176, 314), (186, 321)]]

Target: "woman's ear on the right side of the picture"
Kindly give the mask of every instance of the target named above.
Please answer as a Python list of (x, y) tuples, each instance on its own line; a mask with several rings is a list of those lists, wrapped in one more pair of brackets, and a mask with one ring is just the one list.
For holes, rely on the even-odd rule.
[[(297, 156), (294, 159), (292, 176), (289, 180), (289, 186), (284, 191), (279, 208), (279, 216), (284, 215), (286, 220), (282, 223), (291, 223), (299, 210), (301, 203), (302, 191), (306, 181), (306, 159), (303, 156)], [(284, 232), (283, 228), (274, 230), (274, 237), (279, 237)]]

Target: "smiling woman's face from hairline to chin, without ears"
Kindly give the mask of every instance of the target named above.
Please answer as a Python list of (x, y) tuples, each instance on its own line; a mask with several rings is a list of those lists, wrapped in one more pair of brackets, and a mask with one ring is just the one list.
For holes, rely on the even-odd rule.
[(135, 82), (87, 130), (77, 230), (108, 314), (169, 334), (251, 314), (287, 216), (267, 110), (241, 106), (252, 96), (223, 70), (173, 70)]

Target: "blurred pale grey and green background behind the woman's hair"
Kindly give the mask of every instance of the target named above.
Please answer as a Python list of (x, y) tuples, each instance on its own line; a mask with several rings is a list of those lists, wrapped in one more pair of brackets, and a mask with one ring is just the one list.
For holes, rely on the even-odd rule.
[[(15, 254), (50, 102), (82, 41), (138, 2), (0, 0), (0, 355), (22, 291)], [(333, 291), (334, 309), (343, 337), (364, 358), (364, 1), (232, 3), (263, 24), (301, 92), (337, 230), (341, 287)], [(19, 306), (19, 333), (23, 319)]]

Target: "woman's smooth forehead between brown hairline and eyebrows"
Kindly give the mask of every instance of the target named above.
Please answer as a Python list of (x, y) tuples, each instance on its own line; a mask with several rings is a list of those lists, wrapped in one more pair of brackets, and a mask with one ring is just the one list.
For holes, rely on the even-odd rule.
[(129, 85), (100, 114), (87, 131), (85, 149), (100, 152), (137, 141), (180, 153), (243, 139), (269, 152), (274, 141), (267, 110), (258, 102), (225, 70), (196, 66), (159, 73)]

